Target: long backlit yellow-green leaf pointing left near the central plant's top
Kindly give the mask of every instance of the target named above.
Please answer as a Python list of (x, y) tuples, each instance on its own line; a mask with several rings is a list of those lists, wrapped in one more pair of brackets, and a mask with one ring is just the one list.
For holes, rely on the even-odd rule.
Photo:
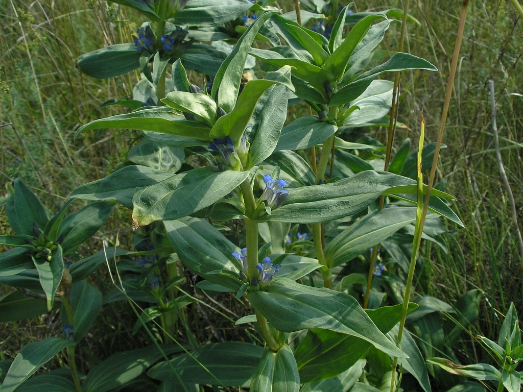
[(209, 131), (211, 130), (206, 125), (186, 120), (175, 109), (161, 107), (138, 110), (127, 114), (117, 114), (117, 116), (106, 119), (91, 121), (78, 128), (76, 136), (92, 129), (109, 128), (154, 131), (206, 141), (209, 140)]

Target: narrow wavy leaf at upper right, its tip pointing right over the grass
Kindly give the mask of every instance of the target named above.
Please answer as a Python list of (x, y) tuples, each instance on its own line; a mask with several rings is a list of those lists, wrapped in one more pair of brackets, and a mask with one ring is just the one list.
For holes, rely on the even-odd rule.
[[(341, 47), (340, 47), (341, 48)], [(339, 48), (338, 48), (339, 49)], [(428, 61), (407, 53), (395, 53), (388, 61), (372, 68), (372, 70), (358, 75), (344, 87), (340, 88), (331, 98), (329, 106), (345, 105), (358, 98), (369, 87), (372, 80), (384, 72), (405, 70), (437, 71), (437, 68)]]

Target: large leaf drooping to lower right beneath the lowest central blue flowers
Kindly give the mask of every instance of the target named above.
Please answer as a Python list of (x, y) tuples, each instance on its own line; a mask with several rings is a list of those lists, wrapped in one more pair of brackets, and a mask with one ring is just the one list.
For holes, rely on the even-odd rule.
[(269, 284), (267, 291), (248, 293), (247, 298), (257, 312), (280, 331), (328, 329), (363, 339), (390, 355), (406, 356), (348, 294), (279, 278)]

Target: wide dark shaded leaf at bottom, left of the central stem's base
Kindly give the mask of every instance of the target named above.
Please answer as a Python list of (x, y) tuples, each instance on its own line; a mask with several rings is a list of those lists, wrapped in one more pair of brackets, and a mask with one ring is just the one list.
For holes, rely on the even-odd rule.
[[(241, 386), (251, 379), (263, 352), (263, 348), (250, 343), (210, 343), (170, 363), (187, 384)], [(167, 362), (161, 362), (147, 375), (166, 380), (173, 376), (173, 369)]]

